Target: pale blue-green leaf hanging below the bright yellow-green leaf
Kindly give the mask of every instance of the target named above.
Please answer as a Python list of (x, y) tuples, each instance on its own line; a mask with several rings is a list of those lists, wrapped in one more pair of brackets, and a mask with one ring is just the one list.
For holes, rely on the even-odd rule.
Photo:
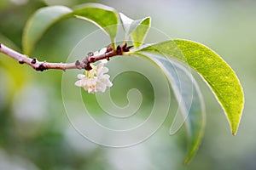
[[(173, 93), (179, 104), (179, 110), (183, 114), (183, 119), (181, 122), (177, 122), (177, 115), (175, 116), (170, 133), (176, 133), (185, 122), (189, 134), (189, 147), (184, 162), (188, 164), (195, 156), (201, 144), (206, 122), (205, 105), (200, 88), (192, 74), (185, 69), (183, 65), (179, 65), (177, 61), (166, 59), (162, 55), (148, 53), (137, 54), (148, 57), (154, 61), (155, 64), (159, 65), (172, 85)], [(177, 124), (177, 129), (173, 126), (174, 124)]]

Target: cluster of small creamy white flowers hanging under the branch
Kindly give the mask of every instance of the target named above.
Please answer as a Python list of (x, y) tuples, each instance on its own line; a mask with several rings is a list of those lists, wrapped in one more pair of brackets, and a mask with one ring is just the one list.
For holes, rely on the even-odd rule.
[(89, 94), (95, 92), (105, 92), (107, 87), (112, 87), (112, 82), (109, 80), (108, 68), (104, 67), (104, 63), (100, 63), (96, 66), (91, 65), (90, 71), (85, 71), (85, 75), (79, 74), (75, 85), (84, 88)]

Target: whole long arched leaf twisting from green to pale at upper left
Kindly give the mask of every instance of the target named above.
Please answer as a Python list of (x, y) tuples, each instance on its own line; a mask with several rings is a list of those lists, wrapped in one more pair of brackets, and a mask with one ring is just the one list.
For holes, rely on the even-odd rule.
[(59, 20), (70, 17), (90, 20), (102, 30), (106, 31), (114, 42), (118, 31), (118, 14), (113, 8), (98, 3), (85, 3), (72, 10), (64, 6), (51, 6), (40, 8), (26, 22), (23, 32), (23, 50), (25, 54), (31, 54), (36, 42), (43, 36), (44, 32)]

